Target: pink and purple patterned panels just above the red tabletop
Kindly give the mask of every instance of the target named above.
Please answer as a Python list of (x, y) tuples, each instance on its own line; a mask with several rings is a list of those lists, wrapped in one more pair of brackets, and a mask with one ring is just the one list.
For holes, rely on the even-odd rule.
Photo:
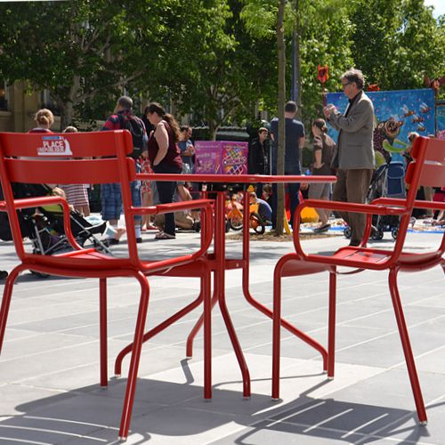
[(247, 142), (195, 142), (195, 173), (247, 174)]

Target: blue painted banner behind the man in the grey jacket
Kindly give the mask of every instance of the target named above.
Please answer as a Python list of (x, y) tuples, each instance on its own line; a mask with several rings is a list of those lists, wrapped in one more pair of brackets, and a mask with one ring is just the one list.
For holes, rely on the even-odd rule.
[[(435, 134), (434, 92), (422, 90), (366, 92), (374, 104), (375, 130), (374, 150), (376, 164), (392, 157), (403, 161), (402, 153), (409, 145), (408, 134), (421, 136)], [(348, 98), (344, 93), (328, 93), (327, 102), (344, 113)], [(328, 134), (336, 141), (337, 132), (329, 127)]]

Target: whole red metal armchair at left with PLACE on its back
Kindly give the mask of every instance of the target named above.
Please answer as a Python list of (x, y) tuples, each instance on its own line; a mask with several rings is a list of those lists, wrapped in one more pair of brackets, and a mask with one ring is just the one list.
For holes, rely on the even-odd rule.
[[(32, 270), (64, 277), (98, 278), (100, 280), (100, 344), (101, 385), (108, 383), (107, 374), (107, 279), (134, 277), (141, 286), (141, 299), (135, 324), (132, 357), (126, 384), (124, 408), (119, 437), (126, 439), (134, 401), (134, 391), (142, 350), (143, 328), (148, 303), (149, 282), (147, 276), (174, 274), (201, 278), (201, 294), (196, 302), (187, 306), (188, 312), (204, 300), (204, 374), (205, 398), (211, 397), (210, 380), (210, 268), (206, 258), (207, 248), (213, 238), (212, 200), (198, 199), (187, 203), (165, 204), (151, 207), (132, 205), (130, 182), (135, 178), (134, 160), (128, 155), (133, 151), (131, 135), (127, 131), (96, 132), (87, 134), (7, 134), (0, 133), (0, 174), (4, 190), (4, 202), (0, 211), (6, 210), (12, 229), (12, 237), (20, 264), (6, 280), (0, 310), (0, 351), (12, 297), (12, 287), (21, 271)], [(94, 158), (93, 158), (94, 157)], [(79, 159), (80, 158), (80, 159)], [(12, 182), (23, 183), (110, 183), (120, 182), (122, 190), (128, 255), (113, 257), (103, 255), (94, 248), (80, 247), (70, 230), (69, 206), (61, 197), (14, 199)], [(28, 253), (23, 244), (17, 210), (59, 204), (63, 208), (64, 230), (73, 250), (59, 255), (35, 255)], [(200, 247), (196, 252), (159, 261), (144, 261), (138, 254), (134, 232), (135, 214), (161, 214), (185, 208), (200, 208), (202, 231)], [(162, 330), (184, 312), (178, 312), (168, 320)]]

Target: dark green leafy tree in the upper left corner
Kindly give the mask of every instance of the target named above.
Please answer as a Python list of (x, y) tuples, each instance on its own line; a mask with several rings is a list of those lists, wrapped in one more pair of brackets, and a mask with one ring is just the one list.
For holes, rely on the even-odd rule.
[(125, 2), (106, 0), (0, 4), (1, 74), (49, 89), (68, 125), (77, 104), (140, 75), (125, 15)]

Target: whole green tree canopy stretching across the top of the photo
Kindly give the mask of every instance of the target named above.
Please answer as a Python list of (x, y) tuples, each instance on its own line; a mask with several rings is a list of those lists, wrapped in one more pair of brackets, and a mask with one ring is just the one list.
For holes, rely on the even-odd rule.
[[(277, 113), (277, 0), (73, 0), (0, 3), (0, 77), (48, 89), (62, 125), (103, 118), (117, 95), (167, 103), (192, 124), (243, 125)], [(298, 18), (298, 20), (297, 20)], [(424, 87), (445, 74), (445, 17), (423, 0), (293, 0), (284, 17), (287, 95), (299, 39), (307, 125), (351, 66), (383, 90)], [(298, 23), (298, 29), (295, 28)], [(441, 93), (442, 96), (444, 93)]]

